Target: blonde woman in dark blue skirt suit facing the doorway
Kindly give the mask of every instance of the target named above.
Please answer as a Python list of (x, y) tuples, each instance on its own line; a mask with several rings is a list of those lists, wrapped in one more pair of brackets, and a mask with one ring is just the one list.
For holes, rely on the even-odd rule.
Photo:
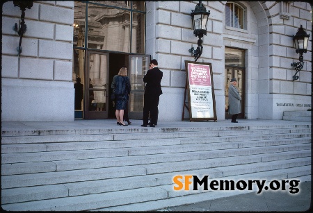
[(127, 109), (128, 95), (131, 91), (126, 67), (122, 67), (118, 75), (113, 77), (111, 88), (115, 94), (115, 116), (118, 121), (117, 123), (118, 125), (128, 126), (123, 122), (124, 110)]

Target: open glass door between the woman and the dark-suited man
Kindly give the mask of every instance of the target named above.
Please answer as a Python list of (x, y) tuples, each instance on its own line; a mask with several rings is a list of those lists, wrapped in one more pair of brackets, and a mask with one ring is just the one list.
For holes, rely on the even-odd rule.
[(143, 76), (150, 65), (150, 55), (129, 56), (129, 78), (131, 82), (131, 94), (129, 95), (129, 118), (143, 119), (143, 94), (145, 83)]

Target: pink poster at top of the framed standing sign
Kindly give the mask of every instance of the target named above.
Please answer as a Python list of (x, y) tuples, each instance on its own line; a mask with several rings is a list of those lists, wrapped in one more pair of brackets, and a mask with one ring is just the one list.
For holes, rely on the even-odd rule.
[(209, 65), (188, 64), (189, 84), (211, 87)]

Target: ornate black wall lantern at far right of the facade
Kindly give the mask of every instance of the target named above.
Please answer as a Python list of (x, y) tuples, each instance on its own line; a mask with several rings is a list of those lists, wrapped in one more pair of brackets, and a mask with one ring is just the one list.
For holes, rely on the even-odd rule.
[(307, 43), (309, 42), (310, 34), (307, 35), (307, 32), (305, 32), (305, 29), (300, 25), (300, 28), (298, 28), (298, 32), (296, 35), (294, 35), (294, 46), (296, 46), (296, 53), (299, 53), (299, 62), (293, 62), (291, 63), (291, 67), (296, 69), (296, 74), (292, 76), (294, 80), (298, 80), (299, 76), (296, 76), (298, 72), (303, 68), (303, 53), (307, 52)]

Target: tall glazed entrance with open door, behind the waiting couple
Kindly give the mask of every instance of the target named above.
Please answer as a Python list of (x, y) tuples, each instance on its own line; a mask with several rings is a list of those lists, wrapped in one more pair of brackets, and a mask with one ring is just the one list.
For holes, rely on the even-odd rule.
[(142, 116), (143, 75), (150, 62), (150, 56), (141, 55), (145, 13), (143, 1), (74, 1), (72, 80), (81, 79), (75, 89), (75, 119), (115, 117), (111, 83), (123, 66), (131, 78), (129, 118)]

